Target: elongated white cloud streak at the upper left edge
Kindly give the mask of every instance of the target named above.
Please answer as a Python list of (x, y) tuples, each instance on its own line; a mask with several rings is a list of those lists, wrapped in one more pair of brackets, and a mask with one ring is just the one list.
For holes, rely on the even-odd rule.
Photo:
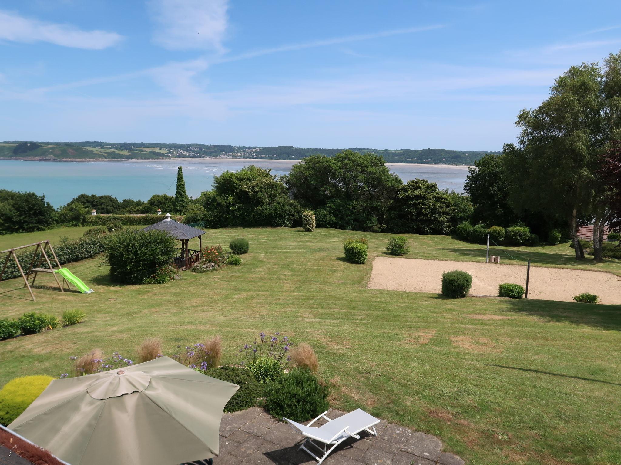
[(71, 24), (56, 24), (0, 10), (0, 40), (12, 42), (49, 42), (63, 47), (101, 50), (122, 40), (116, 32), (81, 30)]

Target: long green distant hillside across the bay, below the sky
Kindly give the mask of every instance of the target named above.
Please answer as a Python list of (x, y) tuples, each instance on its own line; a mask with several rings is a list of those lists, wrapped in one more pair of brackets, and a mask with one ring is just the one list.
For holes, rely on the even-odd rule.
[[(314, 154), (334, 156), (343, 149), (299, 148), (294, 146), (247, 147), (207, 144), (165, 143), (111, 143), (111, 142), (29, 142), (0, 143), (0, 159), (33, 159), (55, 161), (118, 160), (118, 159), (174, 159), (174, 158), (257, 158), (271, 160), (299, 160)], [(486, 151), (458, 151), (446, 149), (372, 149), (354, 147), (360, 153), (376, 153), (387, 162), (469, 165)]]

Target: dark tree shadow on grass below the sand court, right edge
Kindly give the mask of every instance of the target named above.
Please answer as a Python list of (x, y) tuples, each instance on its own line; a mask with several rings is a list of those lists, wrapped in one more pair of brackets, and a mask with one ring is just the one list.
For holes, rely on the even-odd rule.
[(506, 299), (505, 302), (509, 304), (511, 311), (528, 313), (550, 322), (621, 330), (621, 305), (579, 304), (535, 299)]

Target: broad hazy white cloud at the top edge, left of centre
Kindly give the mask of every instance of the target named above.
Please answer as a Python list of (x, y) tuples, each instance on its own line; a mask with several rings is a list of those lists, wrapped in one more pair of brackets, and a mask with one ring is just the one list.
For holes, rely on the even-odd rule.
[(224, 51), (228, 0), (151, 0), (153, 40), (168, 50)]

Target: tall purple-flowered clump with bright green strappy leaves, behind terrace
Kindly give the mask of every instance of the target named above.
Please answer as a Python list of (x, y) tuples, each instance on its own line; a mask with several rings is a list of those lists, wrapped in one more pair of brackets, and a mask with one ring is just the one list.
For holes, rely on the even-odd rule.
[(248, 366), (259, 383), (268, 383), (278, 377), (291, 362), (289, 338), (283, 336), (278, 339), (279, 336), (280, 333), (276, 332), (268, 341), (265, 333), (260, 332), (260, 342), (255, 340), (252, 345), (244, 344), (237, 353), (237, 356), (243, 353), (246, 360), (241, 364)]

